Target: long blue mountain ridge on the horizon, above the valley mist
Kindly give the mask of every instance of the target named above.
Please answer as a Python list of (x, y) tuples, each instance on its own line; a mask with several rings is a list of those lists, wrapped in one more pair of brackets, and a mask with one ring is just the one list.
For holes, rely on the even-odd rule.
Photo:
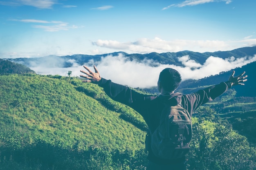
[[(41, 65), (45, 63), (45, 67), (60, 67), (60, 68), (67, 68), (71, 67), (74, 62), (79, 65), (83, 65), (84, 63), (89, 62), (90, 60), (94, 60), (94, 62), (100, 61), (101, 57), (106, 57), (108, 55), (116, 56), (118, 54), (122, 54), (127, 57), (128, 60), (136, 60), (138, 62), (147, 59), (153, 60), (160, 64), (174, 64), (177, 66), (182, 66), (182, 62), (178, 60), (179, 57), (184, 55), (189, 55), (191, 60), (195, 60), (200, 64), (204, 64), (208, 57), (220, 57), (220, 58), (229, 58), (235, 57), (241, 58), (245, 56), (254, 56), (256, 54), (256, 46), (253, 47), (244, 47), (240, 49), (234, 49), (232, 51), (217, 51), (217, 52), (205, 52), (205, 53), (198, 53), (193, 51), (180, 51), (177, 53), (148, 53), (148, 54), (128, 54), (125, 52), (115, 52), (115, 53), (108, 53), (102, 55), (83, 55), (83, 54), (76, 54), (76, 55), (66, 55), (66, 56), (56, 56), (56, 55), (49, 55), (45, 57), (36, 57), (36, 58), (15, 58), (15, 59), (7, 59), (12, 62), (17, 62), (19, 64), (24, 64), (28, 67), (33, 67), (37, 65)], [(152, 63), (154, 66), (154, 63)]]

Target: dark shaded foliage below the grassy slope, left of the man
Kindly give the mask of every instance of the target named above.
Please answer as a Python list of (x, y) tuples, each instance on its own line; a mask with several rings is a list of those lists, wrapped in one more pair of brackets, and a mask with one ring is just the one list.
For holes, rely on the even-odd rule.
[(0, 141), (0, 170), (145, 170), (147, 163), (144, 150), (53, 145), (18, 131), (0, 132)]

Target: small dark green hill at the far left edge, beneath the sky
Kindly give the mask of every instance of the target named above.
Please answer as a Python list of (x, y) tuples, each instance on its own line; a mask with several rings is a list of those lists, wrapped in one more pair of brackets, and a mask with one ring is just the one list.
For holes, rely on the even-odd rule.
[(0, 59), (0, 75), (36, 73), (27, 66)]

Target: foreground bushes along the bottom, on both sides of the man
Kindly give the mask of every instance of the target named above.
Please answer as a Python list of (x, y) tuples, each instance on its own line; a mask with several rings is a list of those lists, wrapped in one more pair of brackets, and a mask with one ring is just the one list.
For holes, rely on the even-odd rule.
[[(0, 132), (0, 170), (146, 170), (144, 149), (124, 151), (83, 141), (49, 144), (21, 131)], [(193, 118), (188, 170), (255, 170), (256, 150), (226, 121)]]

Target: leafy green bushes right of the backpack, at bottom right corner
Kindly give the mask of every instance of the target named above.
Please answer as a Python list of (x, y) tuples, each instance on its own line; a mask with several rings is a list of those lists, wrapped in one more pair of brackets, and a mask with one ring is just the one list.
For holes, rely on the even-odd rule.
[(193, 118), (189, 170), (254, 170), (256, 148), (234, 132), (227, 121)]

